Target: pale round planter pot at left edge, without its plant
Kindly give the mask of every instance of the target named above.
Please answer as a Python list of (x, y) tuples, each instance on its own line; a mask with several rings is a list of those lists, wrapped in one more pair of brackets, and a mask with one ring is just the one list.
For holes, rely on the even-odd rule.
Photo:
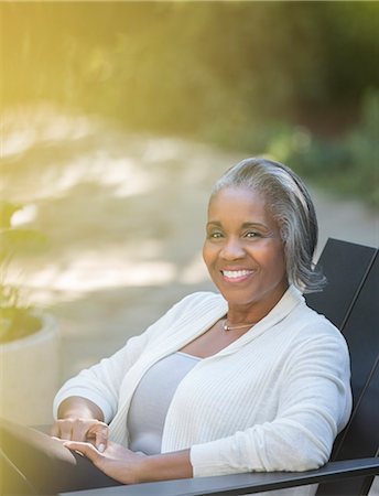
[(23, 424), (52, 423), (59, 381), (59, 333), (43, 315), (43, 327), (28, 337), (0, 344), (0, 417)]

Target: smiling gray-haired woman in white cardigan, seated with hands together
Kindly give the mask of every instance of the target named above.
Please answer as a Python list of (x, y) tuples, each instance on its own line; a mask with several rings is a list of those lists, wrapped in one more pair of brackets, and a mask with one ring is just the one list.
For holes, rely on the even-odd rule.
[(351, 396), (346, 343), (302, 296), (324, 284), (316, 242), (289, 168), (231, 168), (213, 188), (203, 251), (218, 292), (191, 294), (68, 380), (53, 436), (121, 484), (323, 465)]

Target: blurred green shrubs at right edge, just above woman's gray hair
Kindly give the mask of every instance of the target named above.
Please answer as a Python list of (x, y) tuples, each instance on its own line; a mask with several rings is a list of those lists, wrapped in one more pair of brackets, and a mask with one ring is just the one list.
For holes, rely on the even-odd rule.
[(368, 91), (360, 121), (344, 136), (315, 138), (304, 129), (288, 129), (269, 151), (325, 190), (379, 207), (378, 134), (379, 91)]

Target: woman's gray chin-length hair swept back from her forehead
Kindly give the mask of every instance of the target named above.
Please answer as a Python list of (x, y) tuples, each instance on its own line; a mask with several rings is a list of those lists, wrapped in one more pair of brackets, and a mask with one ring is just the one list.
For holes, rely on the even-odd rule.
[(280, 228), (289, 282), (302, 292), (321, 291), (326, 279), (313, 263), (318, 238), (317, 218), (303, 181), (280, 162), (246, 159), (226, 171), (215, 183), (210, 201), (225, 187), (240, 186), (264, 196)]

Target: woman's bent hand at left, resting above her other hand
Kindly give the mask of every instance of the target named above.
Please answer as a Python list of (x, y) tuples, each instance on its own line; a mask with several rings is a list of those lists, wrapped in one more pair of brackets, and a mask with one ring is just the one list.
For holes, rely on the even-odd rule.
[(51, 435), (66, 441), (82, 441), (102, 453), (108, 444), (109, 428), (96, 419), (68, 418), (56, 420)]

